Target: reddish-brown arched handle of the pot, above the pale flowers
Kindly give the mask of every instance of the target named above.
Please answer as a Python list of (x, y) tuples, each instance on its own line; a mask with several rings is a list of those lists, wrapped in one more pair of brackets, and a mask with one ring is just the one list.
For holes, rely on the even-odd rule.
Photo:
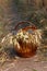
[[(22, 21), (22, 22), (19, 22), (19, 23), (15, 25), (14, 29), (17, 29), (17, 26), (19, 26), (20, 24), (25, 24), (25, 23), (32, 24), (32, 22), (30, 22), (30, 21)], [(23, 27), (22, 29), (23, 29), (23, 31), (27, 31), (27, 29), (35, 31), (35, 29), (37, 29), (37, 28), (36, 28), (35, 25), (31, 25), (31, 26)]]

